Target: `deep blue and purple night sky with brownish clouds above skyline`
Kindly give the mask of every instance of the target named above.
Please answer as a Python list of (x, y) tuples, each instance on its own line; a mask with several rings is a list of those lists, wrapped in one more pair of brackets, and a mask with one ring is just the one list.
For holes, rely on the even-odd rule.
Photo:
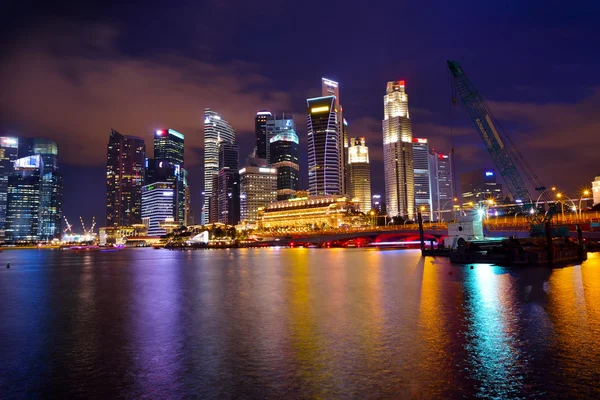
[[(202, 191), (203, 110), (252, 151), (258, 109), (293, 112), (304, 153), (305, 99), (340, 82), (349, 135), (366, 136), (383, 194), (383, 95), (406, 80), (413, 136), (458, 172), (493, 167), (462, 105), (457, 60), (546, 186), (570, 197), (600, 174), (600, 6), (558, 1), (10, 2), (3, 6), (0, 135), (60, 145), (64, 214), (104, 220), (111, 128), (185, 134), (193, 205)], [(75, 8), (72, 8), (75, 7)], [(100, 222), (102, 224), (103, 222)]]

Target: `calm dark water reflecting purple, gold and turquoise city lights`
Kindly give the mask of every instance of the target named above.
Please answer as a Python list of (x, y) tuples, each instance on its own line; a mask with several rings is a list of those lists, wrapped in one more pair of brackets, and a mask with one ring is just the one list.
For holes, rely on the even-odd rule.
[(557, 269), (370, 249), (0, 260), (2, 399), (600, 397), (598, 254)]

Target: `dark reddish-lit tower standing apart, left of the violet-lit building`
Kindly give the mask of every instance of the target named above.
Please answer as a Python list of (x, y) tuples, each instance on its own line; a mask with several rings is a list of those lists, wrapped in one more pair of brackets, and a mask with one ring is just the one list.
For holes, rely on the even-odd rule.
[(106, 226), (141, 223), (145, 159), (144, 139), (111, 129), (106, 157)]

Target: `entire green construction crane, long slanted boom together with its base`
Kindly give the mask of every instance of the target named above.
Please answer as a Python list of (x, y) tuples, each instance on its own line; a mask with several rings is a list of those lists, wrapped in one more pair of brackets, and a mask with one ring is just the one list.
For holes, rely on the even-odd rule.
[[(449, 60), (448, 68), (454, 79), (454, 88), (458, 91), (460, 99), (475, 124), (475, 129), (483, 139), (483, 143), (492, 156), (492, 160), (508, 187), (508, 191), (513, 196), (515, 203), (523, 205), (523, 211), (527, 213), (532, 225), (532, 235), (540, 235), (540, 225), (552, 218), (553, 209), (543, 216), (539, 215), (536, 208), (537, 200), (530, 195), (525, 180), (529, 181), (531, 187), (540, 193), (539, 197), (545, 194), (546, 188), (510, 137), (499, 129), (500, 125), (494, 121), (483, 98), (465, 75), (460, 65), (456, 61)], [(452, 102), (456, 103), (454, 92)]]

